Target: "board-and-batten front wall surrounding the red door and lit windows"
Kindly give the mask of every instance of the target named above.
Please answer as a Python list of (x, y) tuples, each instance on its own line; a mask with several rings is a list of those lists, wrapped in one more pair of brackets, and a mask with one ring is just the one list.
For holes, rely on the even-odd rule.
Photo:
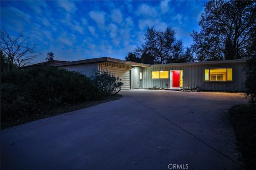
[[(182, 63), (181, 63), (182, 64)], [(223, 63), (223, 64), (191, 64), (180, 66), (160, 66), (151, 65), (149, 68), (143, 68), (142, 79), (143, 88), (170, 88), (170, 75), (168, 79), (151, 79), (151, 71), (161, 70), (183, 70), (183, 88), (198, 86), (200, 90), (218, 90), (218, 91), (244, 91), (245, 63)], [(233, 68), (232, 82), (206, 82), (204, 81), (204, 68)], [(170, 73), (169, 73), (170, 74)], [(168, 86), (166, 86), (168, 84)]]

